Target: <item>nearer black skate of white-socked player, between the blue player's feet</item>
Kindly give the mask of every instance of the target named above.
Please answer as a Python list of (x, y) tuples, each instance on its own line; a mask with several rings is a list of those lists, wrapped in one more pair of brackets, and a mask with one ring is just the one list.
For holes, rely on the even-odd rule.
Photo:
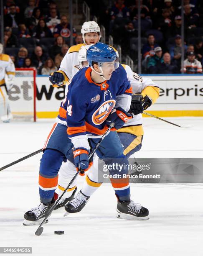
[(89, 198), (90, 197), (84, 195), (81, 191), (78, 192), (76, 197), (65, 206), (66, 212), (63, 216), (67, 216), (69, 213), (80, 212), (88, 202)]

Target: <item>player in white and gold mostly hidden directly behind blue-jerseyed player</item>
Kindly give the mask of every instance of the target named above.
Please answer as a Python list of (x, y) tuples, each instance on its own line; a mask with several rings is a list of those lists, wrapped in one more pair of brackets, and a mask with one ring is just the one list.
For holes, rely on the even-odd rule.
[[(79, 63), (80, 67), (88, 65), (86, 61), (86, 50), (89, 46), (82, 46), (79, 51)], [(143, 128), (142, 128), (142, 111), (147, 109), (150, 105), (155, 103), (159, 97), (159, 87), (152, 82), (149, 78), (142, 78), (140, 75), (134, 73), (128, 65), (122, 64), (127, 72), (127, 76), (130, 79), (130, 83), (133, 89), (132, 111), (135, 113), (134, 118), (129, 120), (121, 129), (117, 130), (119, 138), (124, 147), (124, 155), (127, 157), (139, 151), (142, 146)], [(67, 87), (67, 86), (66, 86)], [(67, 92), (67, 88), (66, 88)], [(58, 177), (58, 188), (56, 194), (61, 195), (70, 179), (73, 177), (74, 164), (70, 161), (63, 163)], [(63, 199), (60, 202), (60, 207), (66, 205), (66, 211), (69, 213), (79, 212), (89, 200), (90, 196), (101, 186), (101, 182), (98, 180), (98, 165), (96, 161), (93, 161), (93, 166), (89, 169), (86, 175), (84, 185), (76, 197), (69, 202), (69, 198), (73, 191), (76, 189), (76, 181), (72, 184), (72, 188), (65, 193)], [(117, 186), (117, 184), (114, 184)], [(116, 187), (114, 187), (116, 189)], [(119, 189), (119, 187), (117, 188)], [(57, 197), (56, 197), (57, 198)], [(67, 204), (67, 202), (69, 202)], [(130, 202), (129, 202), (130, 204)], [(120, 205), (122, 208), (122, 205)], [(58, 208), (58, 207), (57, 207)], [(118, 206), (119, 208), (119, 206)], [(139, 209), (139, 206), (138, 208)], [(122, 209), (117, 209), (119, 218), (128, 218), (126, 213), (122, 213)]]

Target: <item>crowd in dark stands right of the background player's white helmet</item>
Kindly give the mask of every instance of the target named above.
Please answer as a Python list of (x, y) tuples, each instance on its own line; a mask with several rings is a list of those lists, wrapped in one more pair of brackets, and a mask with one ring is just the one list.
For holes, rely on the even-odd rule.
[[(91, 6), (91, 0), (86, 0)], [(138, 0), (101, 0), (91, 8), (114, 44), (137, 63)], [(99, 6), (98, 6), (99, 5)], [(100, 11), (98, 11), (99, 9)], [(181, 0), (141, 0), (142, 73), (181, 73)], [(203, 64), (203, 1), (184, 0), (184, 72), (201, 73)], [(194, 60), (190, 58), (194, 56)]]

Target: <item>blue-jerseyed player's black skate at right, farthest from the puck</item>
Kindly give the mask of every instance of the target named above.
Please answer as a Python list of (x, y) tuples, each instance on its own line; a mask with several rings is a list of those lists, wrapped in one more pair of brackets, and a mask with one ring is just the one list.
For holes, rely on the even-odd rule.
[(118, 201), (117, 218), (126, 220), (148, 220), (149, 211), (140, 204), (131, 201)]

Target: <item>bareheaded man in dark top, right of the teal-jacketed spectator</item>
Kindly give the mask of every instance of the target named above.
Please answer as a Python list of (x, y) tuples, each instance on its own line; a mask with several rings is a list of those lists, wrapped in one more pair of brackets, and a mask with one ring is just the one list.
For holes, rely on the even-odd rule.
[(163, 55), (163, 62), (157, 65), (157, 74), (178, 74), (177, 65), (171, 61), (170, 53), (166, 52)]

